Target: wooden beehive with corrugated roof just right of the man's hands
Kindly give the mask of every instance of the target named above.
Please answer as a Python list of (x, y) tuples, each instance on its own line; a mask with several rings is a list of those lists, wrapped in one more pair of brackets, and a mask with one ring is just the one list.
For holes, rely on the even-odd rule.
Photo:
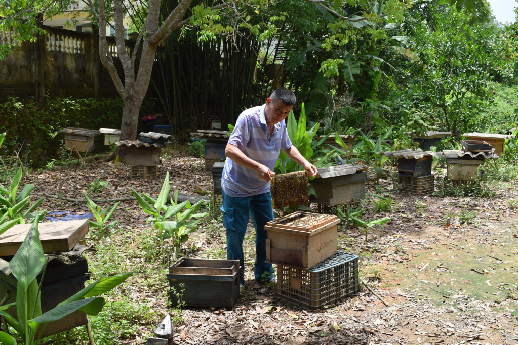
[(311, 202), (341, 205), (365, 199), (365, 170), (367, 167), (352, 164), (319, 169), (318, 175), (311, 181), (316, 193), (316, 196), (311, 196)]

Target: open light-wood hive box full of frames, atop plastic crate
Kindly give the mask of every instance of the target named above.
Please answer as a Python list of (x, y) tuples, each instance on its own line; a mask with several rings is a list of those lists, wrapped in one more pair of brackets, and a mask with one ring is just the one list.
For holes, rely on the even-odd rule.
[(266, 260), (313, 267), (336, 253), (340, 222), (334, 215), (295, 212), (266, 223)]

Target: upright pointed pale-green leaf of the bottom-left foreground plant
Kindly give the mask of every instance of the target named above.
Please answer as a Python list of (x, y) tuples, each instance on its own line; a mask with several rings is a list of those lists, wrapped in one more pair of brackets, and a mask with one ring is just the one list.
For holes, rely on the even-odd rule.
[(43, 248), (39, 242), (38, 223), (32, 224), (27, 232), (23, 243), (9, 262), (12, 275), (18, 279), (22, 287), (21, 291), (26, 291), (29, 284), (36, 279), (45, 263)]

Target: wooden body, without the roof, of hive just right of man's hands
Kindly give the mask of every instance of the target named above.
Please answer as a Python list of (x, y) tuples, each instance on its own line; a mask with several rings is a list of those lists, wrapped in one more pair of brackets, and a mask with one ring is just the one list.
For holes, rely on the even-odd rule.
[(350, 175), (333, 177), (315, 177), (311, 181), (316, 197), (311, 202), (327, 205), (340, 205), (358, 202), (365, 199), (365, 181), (367, 173), (359, 172)]

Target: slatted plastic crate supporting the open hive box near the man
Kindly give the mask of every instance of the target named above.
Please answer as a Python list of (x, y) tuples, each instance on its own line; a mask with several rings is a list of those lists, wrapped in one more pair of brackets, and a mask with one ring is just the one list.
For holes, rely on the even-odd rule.
[(358, 256), (337, 252), (310, 269), (277, 265), (277, 295), (312, 309), (359, 292)]

